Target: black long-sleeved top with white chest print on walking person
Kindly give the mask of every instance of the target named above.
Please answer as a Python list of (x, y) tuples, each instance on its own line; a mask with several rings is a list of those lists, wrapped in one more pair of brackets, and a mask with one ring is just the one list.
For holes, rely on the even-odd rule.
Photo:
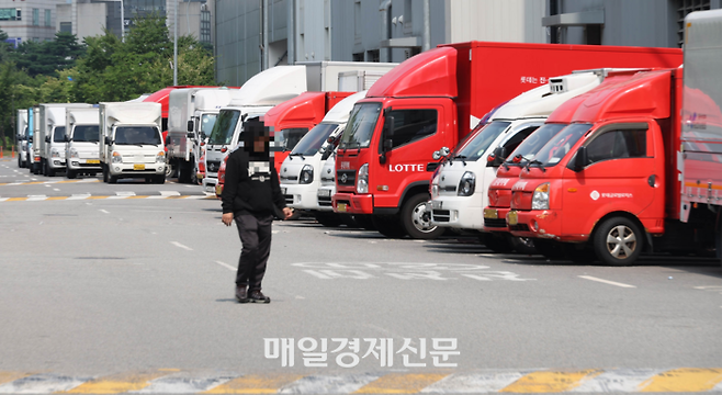
[[(226, 179), (223, 187), (223, 213), (277, 215), (285, 207), (285, 199), (281, 194), (279, 174), (273, 160), (266, 159), (270, 169), (248, 170), (249, 161), (253, 161), (242, 148), (228, 156), (226, 162)], [(268, 171), (270, 170), (270, 171)]]

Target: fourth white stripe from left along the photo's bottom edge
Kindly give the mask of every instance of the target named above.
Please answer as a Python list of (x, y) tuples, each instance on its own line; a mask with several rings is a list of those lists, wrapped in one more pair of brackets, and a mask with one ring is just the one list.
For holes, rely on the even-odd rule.
[(452, 374), (421, 390), (421, 393), (495, 393), (514, 384), (530, 372), (532, 371)]

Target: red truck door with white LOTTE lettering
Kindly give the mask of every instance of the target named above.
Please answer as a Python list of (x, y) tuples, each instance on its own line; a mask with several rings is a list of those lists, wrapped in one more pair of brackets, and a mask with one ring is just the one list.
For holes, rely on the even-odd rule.
[[(435, 150), (444, 146), (444, 133), (441, 133), (441, 120), (443, 109), (435, 108), (410, 108), (394, 106), (386, 113), (383, 133), (379, 143), (379, 154), (383, 154), (383, 142), (387, 138), (390, 128), (388, 120), (393, 116), (394, 133), (391, 136), (392, 146), (386, 150), (386, 160), (381, 163), (376, 161), (379, 171), (369, 179), (369, 190), (376, 193), (374, 206), (397, 207), (399, 199), (406, 185), (426, 181), (431, 178), (430, 162)], [(374, 165), (370, 165), (374, 166)]]

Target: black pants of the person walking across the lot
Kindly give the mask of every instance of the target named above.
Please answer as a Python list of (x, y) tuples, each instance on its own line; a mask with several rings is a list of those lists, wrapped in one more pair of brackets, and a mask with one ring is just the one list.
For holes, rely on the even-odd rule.
[(271, 253), (273, 216), (237, 214), (235, 219), (241, 242), (236, 285), (248, 285), (248, 291), (260, 291), (266, 274), (266, 263)]

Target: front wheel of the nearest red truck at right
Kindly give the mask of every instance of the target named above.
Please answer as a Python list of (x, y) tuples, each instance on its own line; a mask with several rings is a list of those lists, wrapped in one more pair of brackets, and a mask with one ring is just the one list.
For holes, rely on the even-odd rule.
[(644, 235), (636, 224), (624, 217), (611, 217), (597, 229), (594, 249), (600, 261), (611, 266), (634, 263), (644, 247)]

